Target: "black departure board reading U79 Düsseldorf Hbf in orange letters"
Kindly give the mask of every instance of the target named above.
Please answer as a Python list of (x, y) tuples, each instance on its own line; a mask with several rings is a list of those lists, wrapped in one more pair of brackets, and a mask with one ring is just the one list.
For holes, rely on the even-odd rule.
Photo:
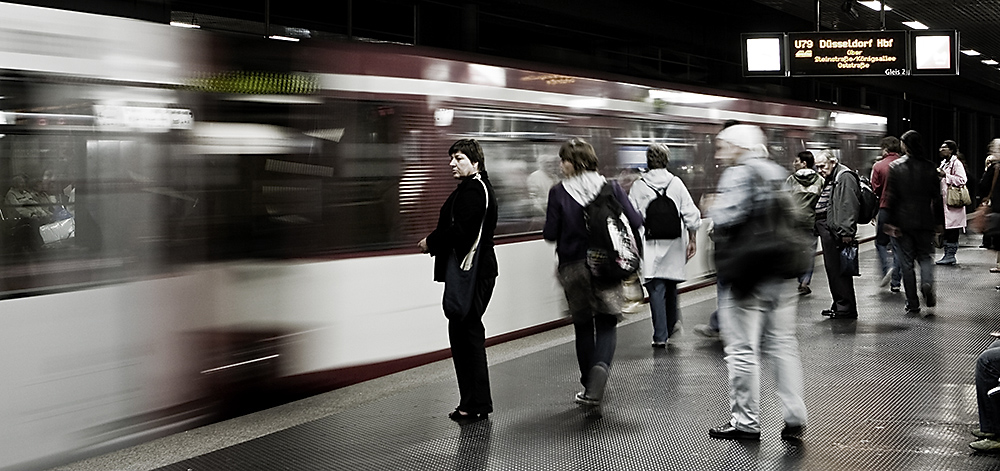
[(788, 33), (791, 76), (910, 75), (904, 31)]

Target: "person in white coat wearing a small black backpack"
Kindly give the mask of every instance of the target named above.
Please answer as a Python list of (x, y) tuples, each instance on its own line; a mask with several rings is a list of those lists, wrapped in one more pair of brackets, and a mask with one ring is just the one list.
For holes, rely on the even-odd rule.
[[(697, 251), (696, 238), (701, 225), (701, 212), (680, 178), (667, 170), (670, 149), (665, 144), (653, 144), (646, 149), (646, 166), (642, 178), (632, 184), (629, 199), (643, 218), (642, 275), (649, 292), (649, 310), (653, 320), (653, 348), (664, 348), (678, 332), (680, 311), (677, 308), (677, 284), (684, 281), (684, 265)], [(662, 198), (662, 201), (652, 204)], [(672, 215), (660, 214), (666, 207)], [(650, 208), (653, 208), (650, 211)], [(661, 218), (651, 221), (650, 218)], [(661, 225), (676, 224), (676, 237), (666, 238)], [(657, 230), (653, 230), (657, 229)], [(673, 228), (669, 228), (673, 229)], [(673, 236), (673, 232), (669, 234)]]

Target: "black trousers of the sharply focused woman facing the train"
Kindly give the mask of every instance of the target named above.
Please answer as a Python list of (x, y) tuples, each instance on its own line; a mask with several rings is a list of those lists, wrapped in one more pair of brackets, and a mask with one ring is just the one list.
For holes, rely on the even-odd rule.
[(476, 279), (472, 309), (461, 320), (448, 321), (448, 340), (451, 358), (455, 362), (458, 392), (461, 400), (458, 409), (470, 414), (493, 412), (490, 396), (490, 372), (486, 367), (486, 327), (483, 313), (493, 296), (496, 278)]

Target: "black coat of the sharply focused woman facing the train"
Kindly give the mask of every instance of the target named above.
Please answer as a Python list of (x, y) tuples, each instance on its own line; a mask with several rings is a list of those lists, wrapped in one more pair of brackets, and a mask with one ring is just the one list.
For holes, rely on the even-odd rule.
[[(427, 236), (427, 249), (434, 258), (434, 281), (444, 282), (448, 257), (464, 257), (476, 241), (480, 223), (483, 235), (479, 241), (478, 278), (497, 276), (497, 256), (493, 251), (493, 233), (497, 228), (497, 197), (486, 172), (479, 172), (489, 193), (489, 208), (483, 186), (472, 177), (463, 177), (441, 206), (437, 228)], [(483, 219), (485, 212), (486, 219)]]

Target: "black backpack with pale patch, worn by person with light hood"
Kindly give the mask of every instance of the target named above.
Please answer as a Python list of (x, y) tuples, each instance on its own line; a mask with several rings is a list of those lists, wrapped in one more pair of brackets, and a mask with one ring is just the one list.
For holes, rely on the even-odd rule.
[(605, 183), (584, 208), (587, 222), (587, 268), (605, 280), (623, 280), (639, 269), (638, 237), (629, 226), (612, 184)]

